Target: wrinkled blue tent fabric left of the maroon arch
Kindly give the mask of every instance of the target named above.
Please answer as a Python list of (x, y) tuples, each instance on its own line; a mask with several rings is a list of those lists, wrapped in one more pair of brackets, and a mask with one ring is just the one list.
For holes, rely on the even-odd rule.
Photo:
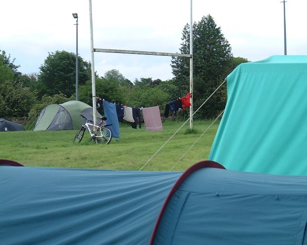
[(149, 244), (181, 174), (0, 166), (0, 244)]

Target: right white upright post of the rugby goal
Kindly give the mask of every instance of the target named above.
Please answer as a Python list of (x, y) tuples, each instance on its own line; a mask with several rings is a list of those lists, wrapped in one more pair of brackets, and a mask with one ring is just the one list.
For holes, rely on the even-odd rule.
[(190, 1), (190, 129), (193, 129), (193, 21), (192, 0)]

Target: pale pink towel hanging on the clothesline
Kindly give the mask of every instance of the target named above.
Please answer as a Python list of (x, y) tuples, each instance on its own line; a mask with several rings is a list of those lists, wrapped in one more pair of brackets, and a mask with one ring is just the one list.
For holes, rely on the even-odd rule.
[(161, 131), (163, 129), (158, 106), (143, 108), (143, 116), (146, 131)]

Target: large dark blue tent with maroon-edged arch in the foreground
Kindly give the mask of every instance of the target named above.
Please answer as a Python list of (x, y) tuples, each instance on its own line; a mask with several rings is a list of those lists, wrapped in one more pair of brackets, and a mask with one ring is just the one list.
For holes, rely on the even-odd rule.
[(307, 176), (0, 166), (1, 244), (307, 245)]

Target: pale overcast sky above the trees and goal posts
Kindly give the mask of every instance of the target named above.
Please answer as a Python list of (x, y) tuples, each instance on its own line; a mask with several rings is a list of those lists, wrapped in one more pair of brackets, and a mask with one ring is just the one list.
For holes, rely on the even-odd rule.
[[(282, 0), (193, 0), (193, 22), (210, 14), (234, 57), (250, 61), (284, 55)], [(288, 55), (307, 55), (306, 0), (286, 1)], [(0, 50), (10, 54), (23, 74), (39, 73), (49, 52), (78, 53), (91, 61), (89, 0), (1, 0)], [(94, 48), (179, 52), (190, 0), (92, 0)], [(171, 57), (94, 53), (95, 71), (118, 70), (131, 82), (173, 77)]]

